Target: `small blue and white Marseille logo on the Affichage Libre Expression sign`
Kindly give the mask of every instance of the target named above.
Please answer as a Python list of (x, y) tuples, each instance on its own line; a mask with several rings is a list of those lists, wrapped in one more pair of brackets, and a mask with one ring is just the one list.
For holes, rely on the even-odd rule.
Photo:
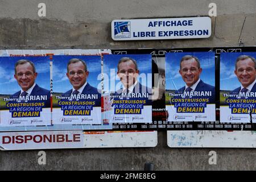
[(130, 22), (114, 22), (114, 38), (131, 38)]

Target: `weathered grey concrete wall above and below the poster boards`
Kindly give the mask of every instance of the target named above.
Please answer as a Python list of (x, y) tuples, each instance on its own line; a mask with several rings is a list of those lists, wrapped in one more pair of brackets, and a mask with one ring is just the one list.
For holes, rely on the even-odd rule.
[[(0, 1), (0, 49), (62, 48), (183, 48), (256, 45), (256, 1), (216, 0), (212, 36), (193, 40), (114, 42), (113, 19), (171, 18), (208, 15), (213, 1), (44, 1), (45, 18), (38, 16), (40, 0)], [(155, 148), (46, 150), (47, 165), (39, 166), (38, 151), (1, 151), (0, 169), (256, 169), (254, 149), (169, 148), (166, 132), (159, 132)], [(210, 141), (209, 141), (210, 142)], [(209, 165), (208, 152), (217, 152), (217, 165)]]

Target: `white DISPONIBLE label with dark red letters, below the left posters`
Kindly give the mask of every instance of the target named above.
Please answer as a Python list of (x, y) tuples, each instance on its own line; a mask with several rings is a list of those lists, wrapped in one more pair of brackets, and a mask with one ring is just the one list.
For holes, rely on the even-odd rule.
[(0, 146), (5, 150), (27, 150), (39, 148), (82, 148), (82, 131), (31, 131), (0, 133)]

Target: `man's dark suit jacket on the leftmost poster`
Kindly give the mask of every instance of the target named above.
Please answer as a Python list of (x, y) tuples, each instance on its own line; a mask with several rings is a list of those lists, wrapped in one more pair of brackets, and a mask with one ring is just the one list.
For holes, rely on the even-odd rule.
[[(20, 90), (19, 92), (16, 92), (13, 94), (10, 98), (19, 98)], [(49, 90), (43, 89), (38, 84), (35, 85), (34, 89), (32, 90), (30, 96), (47, 96), (47, 101), (44, 101), (46, 103), (46, 107), (51, 107), (51, 94)]]

